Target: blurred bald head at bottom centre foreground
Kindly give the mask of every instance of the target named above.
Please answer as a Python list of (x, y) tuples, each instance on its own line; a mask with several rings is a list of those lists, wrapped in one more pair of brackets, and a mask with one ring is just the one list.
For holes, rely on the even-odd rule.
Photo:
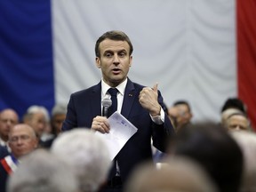
[(195, 162), (185, 157), (165, 159), (161, 166), (140, 164), (124, 192), (217, 192), (216, 186)]

